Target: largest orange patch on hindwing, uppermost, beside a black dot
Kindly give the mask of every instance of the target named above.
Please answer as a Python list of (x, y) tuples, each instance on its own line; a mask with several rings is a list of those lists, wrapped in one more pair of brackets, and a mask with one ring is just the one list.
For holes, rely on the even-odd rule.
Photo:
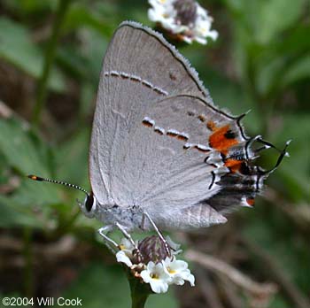
[(214, 127), (214, 133), (209, 137), (209, 144), (213, 149), (221, 151), (222, 154), (227, 155), (228, 149), (237, 144), (235, 138), (227, 138), (225, 134), (229, 131), (229, 125), (224, 127)]

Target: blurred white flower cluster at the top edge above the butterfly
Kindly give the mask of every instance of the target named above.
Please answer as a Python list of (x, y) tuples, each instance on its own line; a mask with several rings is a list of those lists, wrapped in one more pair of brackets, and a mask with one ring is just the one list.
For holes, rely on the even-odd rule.
[(218, 37), (211, 30), (213, 18), (194, 0), (149, 0), (149, 4), (149, 19), (184, 42), (206, 44), (207, 37), (213, 41)]

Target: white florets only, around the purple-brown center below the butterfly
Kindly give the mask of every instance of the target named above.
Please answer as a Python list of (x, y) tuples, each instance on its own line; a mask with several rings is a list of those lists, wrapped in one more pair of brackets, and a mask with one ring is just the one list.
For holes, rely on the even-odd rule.
[(154, 293), (165, 293), (169, 285), (182, 285), (189, 281), (191, 286), (195, 285), (195, 277), (190, 273), (188, 264), (185, 261), (177, 260), (174, 255), (155, 264), (149, 261), (145, 264), (133, 264), (133, 252), (135, 247), (125, 238), (120, 242), (120, 251), (116, 253), (118, 262), (126, 264), (137, 278), (141, 278), (145, 283), (150, 283)]

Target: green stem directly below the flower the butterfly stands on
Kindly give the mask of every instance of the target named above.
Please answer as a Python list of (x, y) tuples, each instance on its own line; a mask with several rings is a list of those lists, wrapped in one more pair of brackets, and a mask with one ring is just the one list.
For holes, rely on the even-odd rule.
[(144, 308), (147, 298), (152, 294), (150, 285), (134, 277), (128, 268), (125, 270), (131, 291), (131, 308)]

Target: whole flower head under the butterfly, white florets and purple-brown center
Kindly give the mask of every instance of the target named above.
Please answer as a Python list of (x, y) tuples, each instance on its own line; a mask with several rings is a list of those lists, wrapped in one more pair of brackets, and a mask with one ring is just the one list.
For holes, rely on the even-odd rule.
[(120, 242), (120, 251), (116, 253), (118, 262), (130, 268), (131, 273), (144, 283), (149, 283), (154, 293), (165, 293), (169, 285), (182, 285), (189, 281), (194, 286), (195, 278), (190, 273), (185, 261), (177, 260), (176, 254), (170, 247), (177, 247), (171, 240), (167, 246), (158, 235), (144, 238), (137, 243), (136, 248), (126, 239)]

